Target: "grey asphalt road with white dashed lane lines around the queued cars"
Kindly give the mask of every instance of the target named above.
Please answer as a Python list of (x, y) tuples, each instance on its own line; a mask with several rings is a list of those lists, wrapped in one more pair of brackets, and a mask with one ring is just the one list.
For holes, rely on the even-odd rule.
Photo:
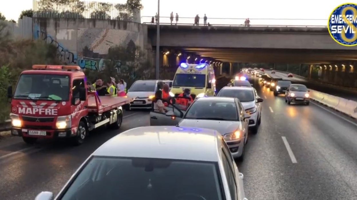
[[(250, 134), (245, 160), (238, 163), (247, 198), (357, 200), (357, 122), (315, 103), (287, 105), (257, 82), (255, 87), (264, 99), (262, 123), (256, 135)], [(34, 199), (40, 191), (57, 194), (102, 143), (147, 125), (148, 112), (127, 112), (120, 131), (99, 130), (78, 147), (28, 146), (17, 137), (0, 141), (0, 199)]]

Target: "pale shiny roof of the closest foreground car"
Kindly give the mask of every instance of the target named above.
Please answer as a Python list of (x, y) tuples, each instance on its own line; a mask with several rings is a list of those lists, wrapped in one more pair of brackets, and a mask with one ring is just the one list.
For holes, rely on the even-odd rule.
[(92, 155), (217, 162), (220, 138), (221, 133), (206, 128), (144, 126), (116, 135)]

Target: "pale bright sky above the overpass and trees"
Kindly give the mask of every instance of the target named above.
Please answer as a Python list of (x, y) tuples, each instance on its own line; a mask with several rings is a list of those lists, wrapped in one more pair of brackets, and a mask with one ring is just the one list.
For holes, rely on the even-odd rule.
[[(109, 3), (125, 3), (126, 0), (104, 0)], [(171, 12), (180, 16), (179, 23), (193, 24), (193, 19), (198, 14), (203, 22), (207, 14), (210, 24), (244, 24), (244, 19), (250, 18), (251, 25), (327, 25), (327, 20), (334, 8), (347, 3), (346, 0), (161, 0), (160, 15), (169, 17)], [(141, 22), (149, 22), (151, 16), (157, 12), (156, 0), (142, 0), (144, 9), (141, 11)], [(6, 1), (0, 7), (0, 12), (7, 19), (17, 20), (22, 10), (31, 9), (32, 0)], [(225, 19), (212, 19), (225, 18)], [(231, 19), (227, 19), (231, 18)], [(238, 19), (237, 19), (238, 18)], [(240, 19), (241, 18), (241, 19)], [(267, 19), (267, 20), (258, 20)], [(320, 20), (274, 20), (274, 19), (320, 19)], [(164, 18), (161, 23), (169, 23), (169, 18)]]

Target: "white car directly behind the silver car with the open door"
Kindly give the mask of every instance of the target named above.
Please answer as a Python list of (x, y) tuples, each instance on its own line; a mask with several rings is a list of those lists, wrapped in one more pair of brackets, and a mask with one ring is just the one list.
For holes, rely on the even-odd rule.
[(262, 117), (261, 102), (263, 99), (253, 87), (223, 87), (217, 97), (235, 97), (242, 103), (247, 114), (250, 114), (249, 128), (257, 133)]

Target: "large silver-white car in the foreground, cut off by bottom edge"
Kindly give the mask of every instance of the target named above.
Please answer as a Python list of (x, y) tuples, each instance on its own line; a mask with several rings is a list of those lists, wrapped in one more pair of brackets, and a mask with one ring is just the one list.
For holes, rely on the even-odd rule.
[[(52, 200), (41, 192), (35, 200)], [(111, 138), (56, 200), (246, 200), (243, 174), (215, 130), (139, 127)]]

